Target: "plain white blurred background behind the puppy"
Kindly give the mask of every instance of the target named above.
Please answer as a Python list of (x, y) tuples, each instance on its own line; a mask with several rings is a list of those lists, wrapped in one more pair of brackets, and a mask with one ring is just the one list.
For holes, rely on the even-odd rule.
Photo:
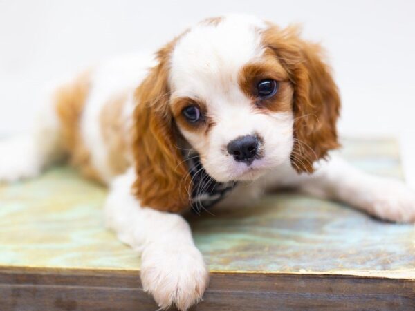
[(0, 135), (30, 129), (46, 82), (114, 55), (153, 51), (187, 26), (245, 12), (302, 23), (327, 50), (340, 133), (396, 136), (415, 185), (415, 1), (0, 0)]

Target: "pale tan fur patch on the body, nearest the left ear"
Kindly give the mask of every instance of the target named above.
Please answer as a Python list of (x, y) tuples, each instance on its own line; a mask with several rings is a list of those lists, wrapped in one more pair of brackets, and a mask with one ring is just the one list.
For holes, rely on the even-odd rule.
[(113, 175), (124, 173), (129, 167), (129, 131), (126, 129), (122, 115), (128, 92), (113, 96), (104, 106), (100, 114), (102, 135), (108, 148), (107, 163)]

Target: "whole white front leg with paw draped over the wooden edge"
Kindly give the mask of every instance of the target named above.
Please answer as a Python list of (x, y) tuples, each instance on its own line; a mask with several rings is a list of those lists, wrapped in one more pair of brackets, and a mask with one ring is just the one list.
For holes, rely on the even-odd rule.
[(177, 214), (140, 207), (131, 195), (133, 169), (118, 176), (105, 203), (107, 226), (141, 253), (141, 282), (160, 308), (187, 310), (208, 285), (208, 270), (186, 221)]

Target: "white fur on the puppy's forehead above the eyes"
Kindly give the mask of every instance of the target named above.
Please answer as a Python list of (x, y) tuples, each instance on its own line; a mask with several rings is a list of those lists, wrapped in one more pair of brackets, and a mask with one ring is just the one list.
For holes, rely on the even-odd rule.
[[(239, 70), (262, 54), (258, 30), (265, 24), (246, 15), (229, 15), (214, 25), (199, 23), (176, 44), (170, 83), (174, 96), (212, 99), (232, 93)], [(223, 94), (221, 94), (223, 95)]]

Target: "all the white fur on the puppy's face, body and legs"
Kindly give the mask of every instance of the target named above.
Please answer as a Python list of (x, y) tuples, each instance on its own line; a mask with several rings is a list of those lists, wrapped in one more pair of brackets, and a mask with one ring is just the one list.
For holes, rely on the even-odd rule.
[[(258, 19), (235, 15), (217, 26), (200, 23), (178, 41), (172, 55), (172, 96), (205, 100), (218, 121), (208, 140), (182, 129), (183, 135), (199, 151), (205, 169), (216, 180), (250, 181), (246, 185), (241, 182), (220, 205), (249, 204), (264, 191), (298, 187), (309, 194), (347, 202), (383, 219), (415, 221), (415, 194), (401, 182), (369, 176), (338, 158), (318, 163), (312, 176), (294, 171), (289, 161), (292, 113), (253, 114), (237, 84), (240, 68), (260, 59), (263, 53), (256, 31), (261, 27), (264, 23)], [(143, 288), (154, 296), (160, 308), (176, 305), (186, 310), (201, 299), (208, 285), (208, 271), (192, 241), (190, 227), (179, 215), (140, 205), (131, 194), (136, 179), (133, 169), (113, 179), (99, 124), (107, 100), (127, 89), (130, 96), (123, 115), (127, 129), (131, 126), (133, 89), (153, 64), (149, 57), (138, 55), (95, 67), (82, 115), (82, 138), (91, 152), (93, 166), (111, 183), (105, 202), (108, 227), (142, 254)], [(50, 99), (46, 103), (36, 131), (24, 138), (0, 142), (0, 181), (36, 176), (62, 153), (57, 117)], [(265, 157), (248, 168), (228, 156), (225, 146), (237, 136), (254, 132), (264, 137)]]

